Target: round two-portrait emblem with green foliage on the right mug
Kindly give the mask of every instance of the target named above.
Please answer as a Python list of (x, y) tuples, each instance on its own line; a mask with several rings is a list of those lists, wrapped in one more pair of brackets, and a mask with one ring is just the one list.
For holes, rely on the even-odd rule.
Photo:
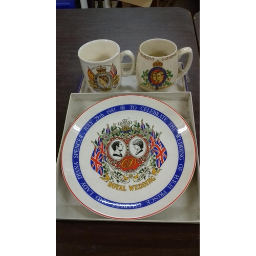
[(148, 71), (143, 71), (141, 76), (144, 82), (140, 83), (145, 88), (160, 90), (172, 86), (170, 79), (173, 77), (172, 71), (162, 68), (163, 63), (159, 60), (153, 63), (153, 68)]

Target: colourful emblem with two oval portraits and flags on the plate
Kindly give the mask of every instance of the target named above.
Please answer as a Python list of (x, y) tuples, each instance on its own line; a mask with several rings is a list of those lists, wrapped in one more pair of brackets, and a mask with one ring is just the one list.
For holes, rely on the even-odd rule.
[(147, 175), (157, 175), (167, 158), (160, 135), (143, 120), (139, 123), (123, 119), (111, 127), (106, 124), (106, 129), (92, 141), (91, 166), (102, 180), (111, 184), (139, 182)]

